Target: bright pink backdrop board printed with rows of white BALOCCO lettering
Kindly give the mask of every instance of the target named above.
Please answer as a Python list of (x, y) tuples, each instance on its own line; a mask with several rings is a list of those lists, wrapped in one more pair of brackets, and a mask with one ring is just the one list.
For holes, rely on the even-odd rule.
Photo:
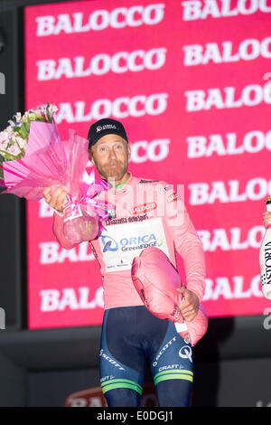
[[(65, 139), (123, 122), (133, 175), (184, 184), (212, 316), (262, 314), (258, 251), (271, 194), (271, 0), (89, 0), (28, 6), (25, 109), (55, 104)], [(90, 167), (88, 168), (88, 171)], [(28, 326), (100, 325), (88, 243), (61, 249), (27, 202)], [(182, 261), (180, 260), (182, 270)]]

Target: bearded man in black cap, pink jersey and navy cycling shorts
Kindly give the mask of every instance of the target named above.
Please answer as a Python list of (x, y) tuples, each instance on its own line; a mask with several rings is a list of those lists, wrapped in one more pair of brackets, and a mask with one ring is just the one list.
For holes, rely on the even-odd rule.
[[(103, 222), (105, 230), (89, 241), (100, 264), (105, 314), (100, 343), (100, 382), (108, 407), (140, 406), (148, 358), (160, 406), (189, 406), (192, 393), (192, 347), (172, 321), (153, 316), (131, 279), (131, 264), (146, 246), (164, 250), (176, 266), (182, 256), (186, 288), (180, 309), (186, 321), (198, 311), (204, 294), (205, 263), (201, 241), (173, 187), (142, 179), (127, 171), (131, 147), (123, 125), (109, 118), (89, 128), (89, 159), (111, 187), (98, 194), (115, 207), (115, 216)], [(55, 209), (53, 231), (66, 249), (62, 212), (66, 190), (44, 190)], [(177, 208), (176, 208), (177, 205)], [(82, 220), (84, 220), (82, 218)], [(85, 240), (88, 240), (88, 235)], [(157, 265), (159, 267), (159, 265)]]

